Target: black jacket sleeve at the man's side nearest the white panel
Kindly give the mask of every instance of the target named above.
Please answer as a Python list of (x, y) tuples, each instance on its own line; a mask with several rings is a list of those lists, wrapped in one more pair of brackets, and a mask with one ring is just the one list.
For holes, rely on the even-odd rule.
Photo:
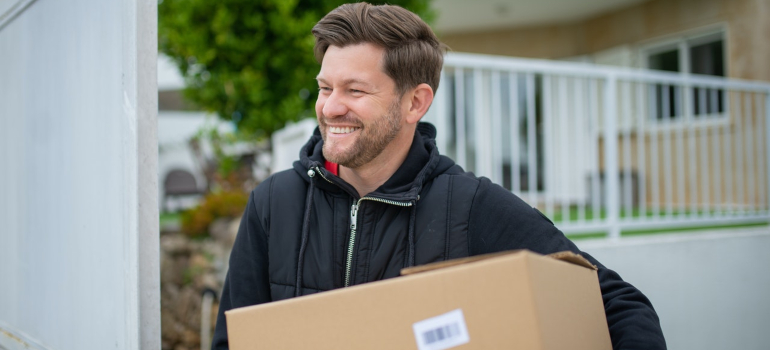
[[(269, 186), (260, 187), (264, 189)], [(229, 349), (225, 311), (272, 300), (268, 280), (267, 234), (263, 226), (265, 222), (260, 218), (262, 210), (268, 208), (266, 205), (258, 205), (260, 201), (256, 198), (260, 198), (260, 187), (249, 196), (230, 253), (230, 266), (222, 289), (212, 350)]]

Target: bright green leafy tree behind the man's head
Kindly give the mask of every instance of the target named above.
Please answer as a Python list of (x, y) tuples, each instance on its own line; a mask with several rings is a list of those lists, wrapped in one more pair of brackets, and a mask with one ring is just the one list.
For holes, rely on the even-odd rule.
[[(429, 20), (430, 0), (392, 0)], [(311, 28), (341, 0), (161, 0), (159, 48), (185, 77), (185, 96), (269, 136), (313, 116), (318, 63)], [(373, 1), (372, 3), (382, 3)]]

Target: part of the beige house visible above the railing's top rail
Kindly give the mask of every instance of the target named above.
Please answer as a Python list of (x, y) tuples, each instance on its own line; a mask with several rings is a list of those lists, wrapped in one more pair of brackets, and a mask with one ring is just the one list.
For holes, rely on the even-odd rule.
[(770, 81), (766, 0), (435, 0), (455, 52)]

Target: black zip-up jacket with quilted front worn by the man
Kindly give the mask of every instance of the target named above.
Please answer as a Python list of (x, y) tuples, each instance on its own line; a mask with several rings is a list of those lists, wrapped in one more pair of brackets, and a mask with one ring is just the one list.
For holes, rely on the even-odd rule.
[(391, 278), (406, 266), (511, 249), (583, 254), (599, 266), (613, 348), (666, 348), (658, 316), (639, 290), (580, 252), (510, 191), (440, 156), (432, 125), (420, 123), (417, 130), (404, 164), (363, 198), (324, 168), (318, 130), (294, 169), (274, 174), (251, 193), (230, 255), (212, 349), (227, 348), (226, 310)]

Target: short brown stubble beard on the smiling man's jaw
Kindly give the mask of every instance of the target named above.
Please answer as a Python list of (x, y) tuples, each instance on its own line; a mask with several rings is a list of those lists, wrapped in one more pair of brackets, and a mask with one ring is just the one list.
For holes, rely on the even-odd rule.
[(360, 135), (350, 149), (339, 152), (330, 149), (332, 145), (326, 142), (328, 126), (321, 121), (324, 158), (351, 169), (359, 168), (377, 158), (401, 131), (400, 107), (398, 102), (391, 104), (386, 115), (377, 118), (370, 125), (361, 127)]

